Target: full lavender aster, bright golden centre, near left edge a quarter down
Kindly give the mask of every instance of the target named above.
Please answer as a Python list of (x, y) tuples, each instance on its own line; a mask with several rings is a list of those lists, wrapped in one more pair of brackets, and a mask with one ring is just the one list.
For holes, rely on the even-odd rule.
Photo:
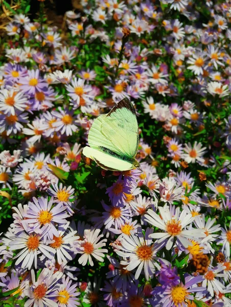
[(36, 91), (41, 92), (44, 87), (48, 87), (48, 83), (39, 75), (39, 70), (28, 71), (28, 76), (19, 78), (19, 83), (22, 84), (21, 90), (27, 94), (34, 95)]

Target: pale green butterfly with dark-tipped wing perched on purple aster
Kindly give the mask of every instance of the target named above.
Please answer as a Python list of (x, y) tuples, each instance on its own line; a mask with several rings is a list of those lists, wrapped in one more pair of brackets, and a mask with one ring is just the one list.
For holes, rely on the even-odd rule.
[(128, 98), (108, 114), (99, 116), (90, 127), (83, 155), (107, 170), (125, 171), (140, 167), (135, 160), (139, 144), (135, 108)]

